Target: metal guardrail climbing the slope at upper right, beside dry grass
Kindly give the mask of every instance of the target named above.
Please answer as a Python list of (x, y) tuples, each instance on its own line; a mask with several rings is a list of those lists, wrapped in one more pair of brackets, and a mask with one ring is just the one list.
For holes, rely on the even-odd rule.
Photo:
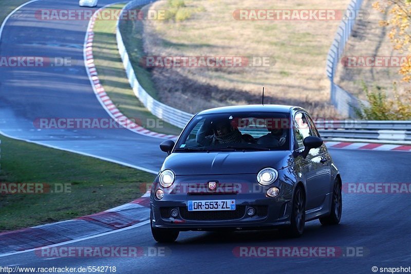
[[(363, 0), (352, 0), (347, 10), (352, 10), (354, 14), (356, 14), (355, 12), (360, 9), (362, 3)], [(344, 19), (341, 21), (327, 56), (326, 72), (331, 84), (331, 103), (337, 108), (337, 111), (345, 117), (356, 116), (354, 107), (358, 107), (359, 102), (356, 97), (334, 83), (334, 76), (355, 22), (353, 19)]]

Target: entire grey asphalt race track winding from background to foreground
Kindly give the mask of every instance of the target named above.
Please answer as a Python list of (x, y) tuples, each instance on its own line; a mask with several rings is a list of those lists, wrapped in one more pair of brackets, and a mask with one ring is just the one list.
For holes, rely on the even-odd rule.
[[(99, 7), (109, 4), (100, 1)], [(0, 130), (4, 133), (83, 153), (158, 170), (165, 154), (161, 139), (127, 130), (41, 130), (37, 117), (108, 118), (96, 99), (83, 63), (87, 21), (39, 21), (37, 9), (77, 8), (77, 1), (42, 0), (27, 5), (8, 21), (0, 43), (2, 56), (60, 56), (77, 62), (61, 68), (0, 68)], [(407, 152), (331, 150), (343, 182), (411, 183)], [(343, 193), (341, 224), (306, 224), (300, 239), (263, 232), (181, 232), (177, 242), (157, 244), (150, 225), (117, 231), (68, 246), (166, 247), (164, 257), (40, 258), (34, 252), (0, 257), (1, 265), (23, 267), (116, 266), (118, 273), (140, 272), (315, 272), (372, 273), (371, 267), (411, 266), (410, 194)], [(360, 248), (356, 257), (237, 258), (238, 246)]]

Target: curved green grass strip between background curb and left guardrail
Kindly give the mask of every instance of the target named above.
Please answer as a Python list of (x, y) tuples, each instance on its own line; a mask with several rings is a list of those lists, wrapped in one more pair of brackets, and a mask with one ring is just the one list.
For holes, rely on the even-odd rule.
[[(108, 9), (121, 9), (124, 4), (118, 4)], [(180, 134), (180, 129), (172, 124), (159, 121), (148, 109), (136, 98), (133, 89), (128, 83), (127, 76), (117, 49), (116, 41), (116, 21), (96, 21), (94, 27), (93, 54), (99, 74), (101, 84), (104, 86), (110, 99), (116, 104), (120, 111), (128, 118), (140, 121), (140, 124), (151, 131), (164, 134)], [(122, 33), (127, 30), (123, 30)], [(133, 43), (134, 48), (141, 47), (138, 43)], [(132, 51), (133, 52), (133, 51)], [(143, 70), (143, 71), (142, 71)], [(147, 71), (135, 68), (138, 81), (152, 96), (153, 83), (147, 75)], [(153, 96), (155, 97), (155, 96)], [(156, 122), (155, 125), (153, 121)]]

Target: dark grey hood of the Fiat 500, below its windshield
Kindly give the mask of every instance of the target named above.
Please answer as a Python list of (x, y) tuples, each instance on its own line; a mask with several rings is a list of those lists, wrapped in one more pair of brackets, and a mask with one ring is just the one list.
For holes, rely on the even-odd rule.
[(291, 151), (175, 152), (161, 170), (171, 169), (176, 175), (256, 174), (266, 167), (279, 170), (291, 163)]

